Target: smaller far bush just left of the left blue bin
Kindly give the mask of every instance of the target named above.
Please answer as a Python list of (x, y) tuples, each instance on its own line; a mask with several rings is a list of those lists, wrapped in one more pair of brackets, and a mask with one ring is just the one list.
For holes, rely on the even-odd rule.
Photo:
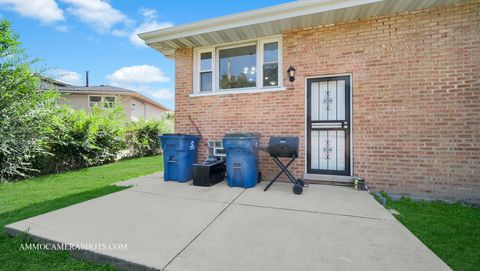
[(125, 131), (126, 156), (138, 157), (159, 154), (161, 145), (160, 134), (173, 131), (172, 115), (166, 115), (159, 121), (132, 122)]

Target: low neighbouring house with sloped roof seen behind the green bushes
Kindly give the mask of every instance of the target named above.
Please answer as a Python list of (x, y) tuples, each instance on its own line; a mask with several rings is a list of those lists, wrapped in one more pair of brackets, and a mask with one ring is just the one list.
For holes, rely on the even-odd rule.
[(72, 86), (41, 77), (42, 89), (52, 87), (62, 94), (62, 102), (73, 109), (88, 111), (95, 106), (112, 107), (118, 103), (123, 107), (125, 117), (130, 121), (158, 120), (170, 111), (169, 108), (133, 90), (107, 85)]

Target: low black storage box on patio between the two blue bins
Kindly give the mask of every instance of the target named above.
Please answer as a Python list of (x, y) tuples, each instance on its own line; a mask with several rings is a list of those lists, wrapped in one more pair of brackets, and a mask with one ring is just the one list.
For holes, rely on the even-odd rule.
[(193, 185), (212, 186), (225, 178), (225, 161), (205, 161), (193, 164)]

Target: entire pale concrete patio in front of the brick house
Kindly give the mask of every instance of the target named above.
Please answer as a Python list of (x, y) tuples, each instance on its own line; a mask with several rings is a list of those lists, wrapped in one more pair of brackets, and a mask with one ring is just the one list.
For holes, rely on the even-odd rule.
[(61, 244), (121, 243), (76, 256), (122, 270), (449, 270), (368, 193), (291, 184), (195, 187), (161, 174), (6, 227)]

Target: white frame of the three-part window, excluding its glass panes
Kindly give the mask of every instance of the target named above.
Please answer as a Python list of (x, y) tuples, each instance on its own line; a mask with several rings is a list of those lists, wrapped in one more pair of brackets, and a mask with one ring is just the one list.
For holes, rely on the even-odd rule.
[[(278, 85), (277, 86), (263, 86), (263, 50), (266, 43), (278, 43)], [(220, 66), (220, 50), (244, 47), (249, 45), (256, 45), (256, 57), (257, 57), (257, 76), (256, 86), (248, 88), (233, 88), (233, 89), (220, 89), (219, 66)], [(200, 92), (200, 65), (201, 54), (212, 54), (212, 91)], [(235, 94), (235, 93), (250, 93), (250, 92), (262, 92), (262, 91), (276, 91), (285, 90), (283, 87), (283, 54), (282, 54), (282, 36), (273, 36), (268, 38), (246, 40), (235, 43), (225, 43), (216, 46), (200, 47), (194, 49), (194, 63), (193, 63), (193, 94), (191, 96), (207, 96), (207, 95), (219, 95), (219, 94)]]

